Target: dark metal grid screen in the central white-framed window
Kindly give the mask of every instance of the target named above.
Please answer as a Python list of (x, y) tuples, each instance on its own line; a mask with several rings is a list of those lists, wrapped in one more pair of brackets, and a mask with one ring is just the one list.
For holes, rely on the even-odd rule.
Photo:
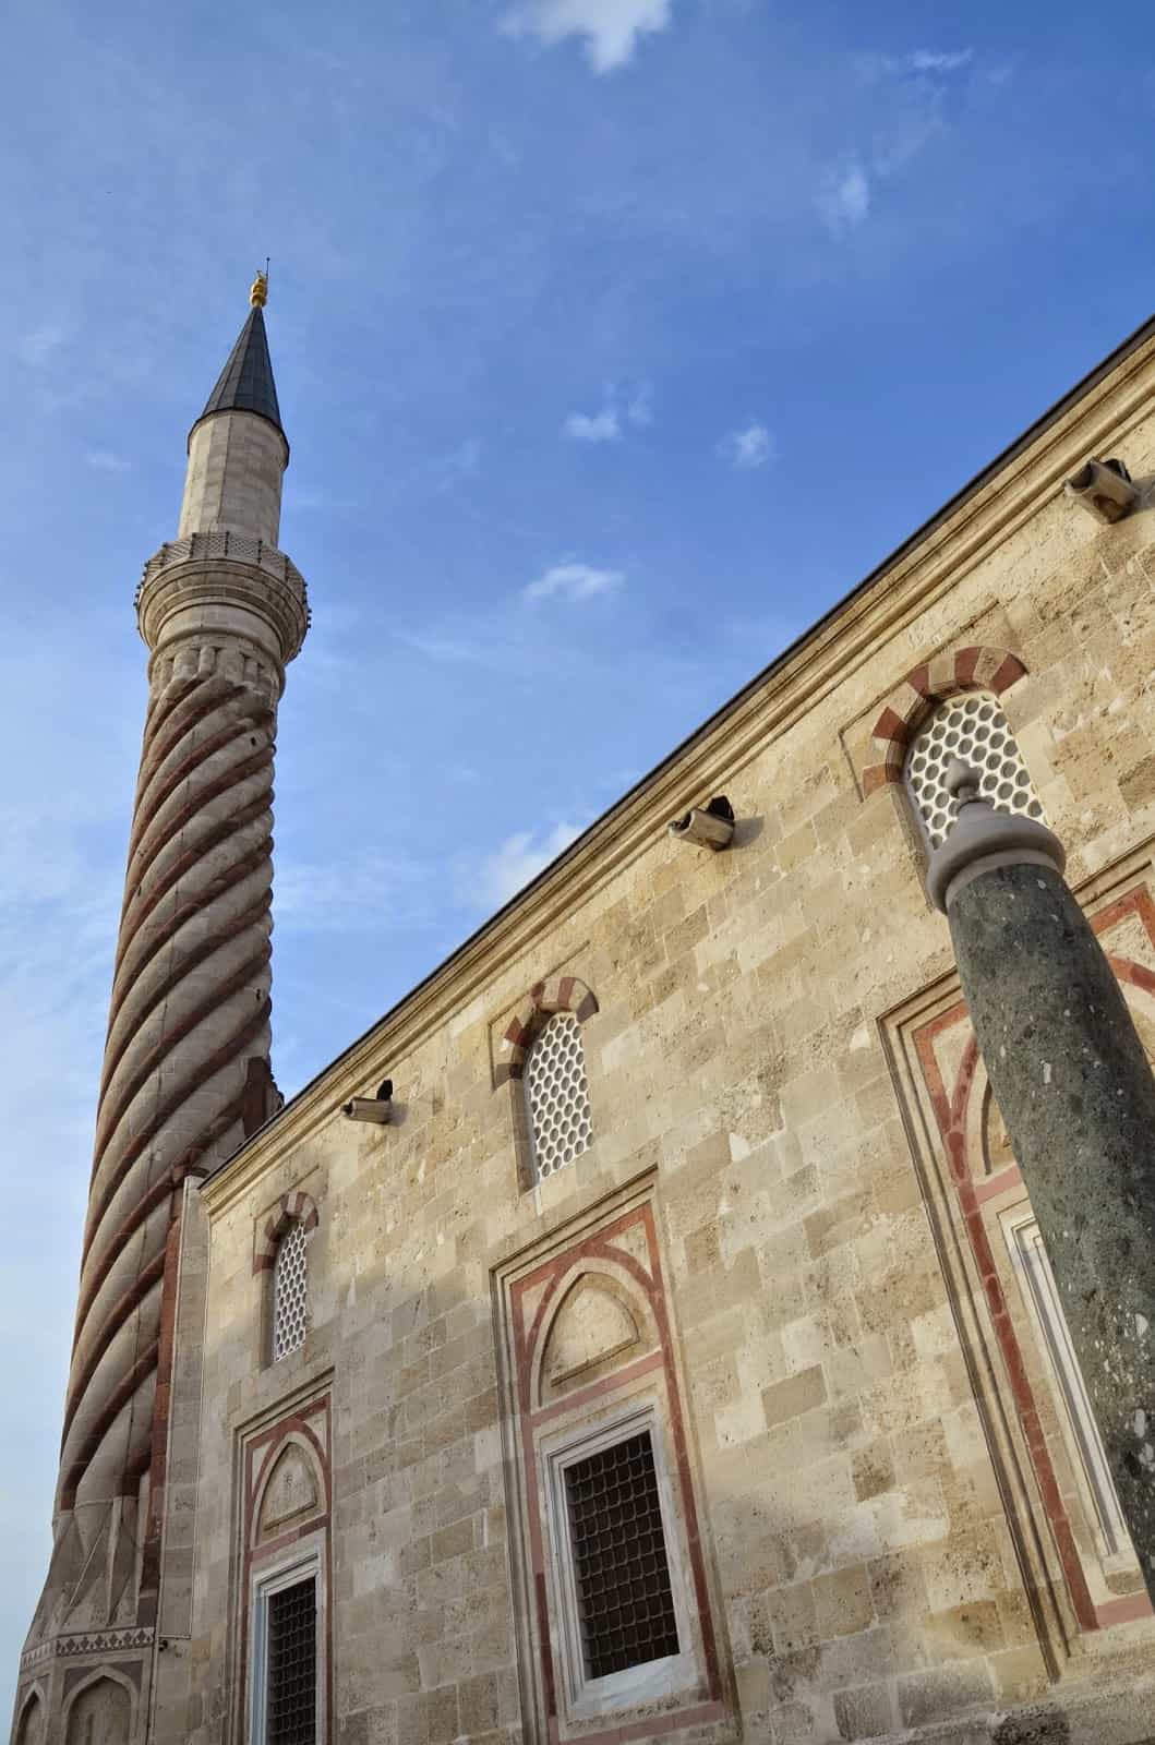
[(649, 1431), (565, 1469), (588, 1679), (679, 1653)]

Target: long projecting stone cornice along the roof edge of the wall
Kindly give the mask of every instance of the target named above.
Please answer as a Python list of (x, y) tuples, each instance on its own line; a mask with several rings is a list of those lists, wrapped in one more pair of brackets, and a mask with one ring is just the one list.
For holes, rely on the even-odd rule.
[[(733, 792), (740, 773), (869, 660), (954, 590), (1035, 517), (1063, 536), (1066, 558), (1111, 539), (1127, 562), (1152, 539), (1145, 515), (1111, 529), (1071, 518), (1064, 482), (1089, 454), (1125, 454), (1155, 396), (1155, 319), (1080, 382), (930, 522), (874, 569), (811, 630), (724, 703), (701, 728), (604, 813), (534, 883), (413, 988), (370, 1031), (222, 1164), (201, 1192), (215, 1216), (269, 1164), (316, 1133), (338, 1105), (490, 988), (502, 967), (571, 921), (630, 862), (665, 839), (693, 796)], [(949, 415), (944, 408), (942, 415)], [(895, 468), (900, 455), (895, 455)], [(911, 667), (906, 654), (897, 682)], [(832, 756), (837, 721), (830, 712)]]

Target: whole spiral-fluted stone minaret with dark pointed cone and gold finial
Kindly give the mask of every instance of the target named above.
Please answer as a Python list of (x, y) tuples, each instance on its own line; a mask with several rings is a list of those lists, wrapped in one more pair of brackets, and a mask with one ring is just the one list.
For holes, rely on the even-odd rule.
[[(145, 1646), (155, 1623), (164, 1323), (181, 1183), (227, 1157), (277, 1101), (269, 1071), (272, 752), (284, 668), (309, 614), (305, 583), (277, 550), (290, 450), (265, 298), (258, 274), (248, 321), (188, 435), (178, 537), (148, 560), (136, 593), (148, 710), (52, 1562), (21, 1661), (24, 1673), (42, 1668), (44, 1693), (59, 1687), (45, 1738), (65, 1736), (52, 1731), (59, 1659), (96, 1666), (117, 1635)], [(19, 1715), (17, 1707), (17, 1728)]]

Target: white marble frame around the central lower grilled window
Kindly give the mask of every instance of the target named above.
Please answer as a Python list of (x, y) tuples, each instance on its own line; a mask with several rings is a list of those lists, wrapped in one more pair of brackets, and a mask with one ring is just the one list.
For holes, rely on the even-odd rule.
[[(649, 1433), (654, 1454), (679, 1653), (666, 1654), (661, 1659), (642, 1661), (637, 1666), (626, 1666), (623, 1672), (607, 1673), (602, 1679), (590, 1679), (581, 1644), (581, 1612), (565, 1499), (565, 1471), (578, 1461), (586, 1461), (591, 1454), (600, 1454), (619, 1441), (628, 1441), (642, 1431)], [(600, 1719), (637, 1708), (640, 1703), (666, 1701), (682, 1694), (691, 1696), (701, 1687), (705, 1677), (698, 1649), (700, 1633), (691, 1625), (693, 1583), (689, 1551), (684, 1537), (682, 1511), (675, 1508), (675, 1482), (670, 1475), (666, 1436), (663, 1431), (665, 1413), (658, 1399), (647, 1398), (639, 1401), (633, 1398), (628, 1406), (612, 1417), (600, 1419), (597, 1424), (569, 1426), (558, 1433), (557, 1440), (543, 1440), (539, 1443), (537, 1452), (544, 1469), (543, 1502), (550, 1550), (553, 1642), (569, 1721)]]

